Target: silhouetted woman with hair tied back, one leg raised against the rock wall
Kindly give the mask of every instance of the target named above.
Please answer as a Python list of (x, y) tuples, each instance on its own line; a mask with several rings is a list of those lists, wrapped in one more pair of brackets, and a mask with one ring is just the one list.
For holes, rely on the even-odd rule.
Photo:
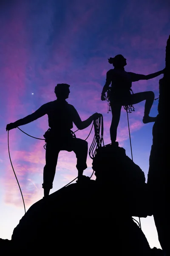
[(105, 93), (109, 89), (111, 84), (111, 91), (109, 93), (109, 101), (112, 111), (112, 122), (110, 128), (111, 142), (114, 145), (116, 142), (117, 127), (119, 125), (120, 113), (122, 106), (133, 105), (143, 100), (146, 100), (144, 106), (144, 124), (148, 122), (155, 122), (156, 117), (150, 117), (150, 109), (154, 101), (154, 93), (152, 91), (146, 91), (142, 93), (133, 93), (131, 94), (130, 87), (132, 82), (139, 80), (148, 80), (156, 76), (159, 76), (164, 73), (164, 70), (150, 74), (150, 75), (141, 75), (132, 72), (125, 71), (126, 59), (121, 55), (116, 55), (114, 58), (109, 58), (108, 62), (113, 64), (114, 69), (111, 69), (106, 74), (106, 83), (102, 90), (101, 100), (106, 99)]

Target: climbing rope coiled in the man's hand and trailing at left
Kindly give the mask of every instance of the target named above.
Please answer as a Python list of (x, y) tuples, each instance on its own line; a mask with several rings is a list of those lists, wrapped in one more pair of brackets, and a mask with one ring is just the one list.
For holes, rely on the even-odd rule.
[[(95, 155), (96, 155), (96, 150), (97, 148), (101, 147), (102, 145), (104, 145), (104, 141), (103, 141), (103, 116), (101, 115), (97, 120), (94, 120), (92, 126), (91, 126), (91, 130), (88, 134), (88, 137), (90, 136), (91, 134), (91, 131), (92, 131), (92, 128), (94, 127), (94, 139), (93, 139), (93, 142), (91, 144), (91, 147), (89, 149), (89, 156), (91, 157), (91, 159), (94, 159)], [(29, 137), (31, 138), (34, 138), (34, 139), (37, 139), (37, 140), (45, 140), (45, 139), (41, 139), (41, 138), (37, 138), (37, 137), (34, 137), (34, 136), (31, 136), (29, 134), (27, 134), (25, 131), (21, 130), (19, 127), (17, 127), (20, 131), (22, 131), (24, 134), (28, 135)], [(48, 129), (49, 130), (49, 129)], [(79, 129), (77, 129), (76, 131), (71, 131), (71, 134), (73, 135), (74, 138), (76, 138), (76, 135), (75, 133), (79, 131)], [(88, 137), (85, 139), (87, 140)], [(45, 146), (46, 146), (47, 143), (45, 143), (45, 145), (43, 146), (44, 149), (45, 149)], [(24, 198), (23, 198), (23, 193), (22, 193), (22, 190), (20, 188), (20, 183), (17, 179), (17, 175), (14, 171), (14, 167), (13, 167), (13, 164), (12, 164), (12, 161), (11, 161), (11, 155), (10, 155), (10, 151), (9, 151), (9, 131), (8, 131), (8, 154), (9, 154), (9, 159), (10, 159), (10, 162), (11, 162), (11, 167), (12, 167), (12, 170), (14, 172), (14, 175), (15, 175), (15, 178), (17, 180), (17, 183), (18, 183), (18, 186), (19, 186), (19, 189), (20, 189), (20, 192), (21, 192), (21, 196), (22, 196), (22, 199), (23, 199), (23, 205), (24, 205), (24, 211), (26, 213), (26, 207), (25, 207), (25, 202), (24, 202)], [(93, 176), (94, 174), (94, 171), (92, 172), (91, 174), (91, 177)], [(91, 179), (90, 177), (90, 179)], [(77, 177), (74, 179), (76, 180)], [(74, 180), (71, 180), (71, 182), (69, 182), (68, 184), (66, 184), (65, 186), (63, 186), (62, 188), (68, 186), (70, 183), (72, 183)], [(61, 188), (61, 189), (62, 189)], [(60, 190), (60, 189), (59, 189)]]

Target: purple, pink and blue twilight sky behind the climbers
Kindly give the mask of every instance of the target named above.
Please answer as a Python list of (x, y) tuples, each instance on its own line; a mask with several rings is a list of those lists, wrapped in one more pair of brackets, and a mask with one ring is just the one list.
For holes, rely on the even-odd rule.
[[(126, 71), (147, 75), (165, 67), (165, 47), (170, 34), (170, 2), (160, 0), (1, 0), (0, 1), (0, 238), (11, 239), (24, 215), (23, 201), (8, 157), (6, 125), (56, 99), (57, 83), (70, 84), (68, 103), (82, 120), (102, 113), (104, 143), (111, 143), (111, 112), (100, 100), (108, 58), (127, 58)], [(2, 26), (3, 25), (3, 26)], [(152, 90), (159, 97), (159, 79), (134, 82), (134, 93)], [(151, 116), (156, 116), (158, 100)], [(153, 123), (143, 124), (144, 102), (129, 114), (133, 160), (146, 181), (152, 145)], [(20, 126), (43, 138), (48, 116)], [(91, 126), (77, 131), (85, 139)], [(76, 130), (74, 127), (73, 131)], [(92, 143), (94, 131), (88, 138)], [(122, 108), (118, 127), (119, 146), (131, 157), (127, 115)], [(9, 131), (11, 160), (20, 183), (26, 210), (43, 197), (44, 141), (19, 129)], [(92, 173), (92, 160), (88, 169)], [(51, 193), (77, 177), (74, 152), (61, 151)], [(92, 177), (95, 179), (95, 176)], [(153, 217), (141, 219), (150, 247), (161, 248)]]

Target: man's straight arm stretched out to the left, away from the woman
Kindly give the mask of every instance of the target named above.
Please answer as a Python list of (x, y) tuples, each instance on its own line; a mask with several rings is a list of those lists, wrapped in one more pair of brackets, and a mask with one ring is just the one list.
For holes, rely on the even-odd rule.
[(17, 128), (17, 126), (26, 125), (30, 122), (33, 122), (34, 120), (40, 118), (41, 116), (44, 116), (46, 113), (47, 113), (47, 106), (46, 104), (44, 104), (31, 115), (28, 115), (22, 119), (17, 120), (16, 122), (6, 125), (6, 131)]

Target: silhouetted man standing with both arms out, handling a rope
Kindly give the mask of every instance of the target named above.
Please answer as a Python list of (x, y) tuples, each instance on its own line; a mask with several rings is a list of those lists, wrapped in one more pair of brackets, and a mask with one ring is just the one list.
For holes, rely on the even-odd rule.
[(49, 195), (50, 189), (52, 189), (58, 154), (61, 150), (74, 151), (77, 157), (78, 182), (82, 181), (83, 171), (87, 168), (88, 143), (85, 140), (73, 137), (71, 129), (73, 128), (73, 122), (79, 130), (85, 129), (94, 119), (98, 119), (100, 116), (99, 113), (94, 113), (88, 119), (82, 121), (74, 106), (65, 101), (70, 93), (69, 87), (69, 84), (57, 84), (54, 91), (57, 100), (42, 105), (31, 115), (6, 126), (6, 131), (9, 131), (17, 128), (17, 126), (26, 125), (45, 114), (48, 115), (50, 129), (44, 134), (47, 143), (42, 184), (44, 196)]

